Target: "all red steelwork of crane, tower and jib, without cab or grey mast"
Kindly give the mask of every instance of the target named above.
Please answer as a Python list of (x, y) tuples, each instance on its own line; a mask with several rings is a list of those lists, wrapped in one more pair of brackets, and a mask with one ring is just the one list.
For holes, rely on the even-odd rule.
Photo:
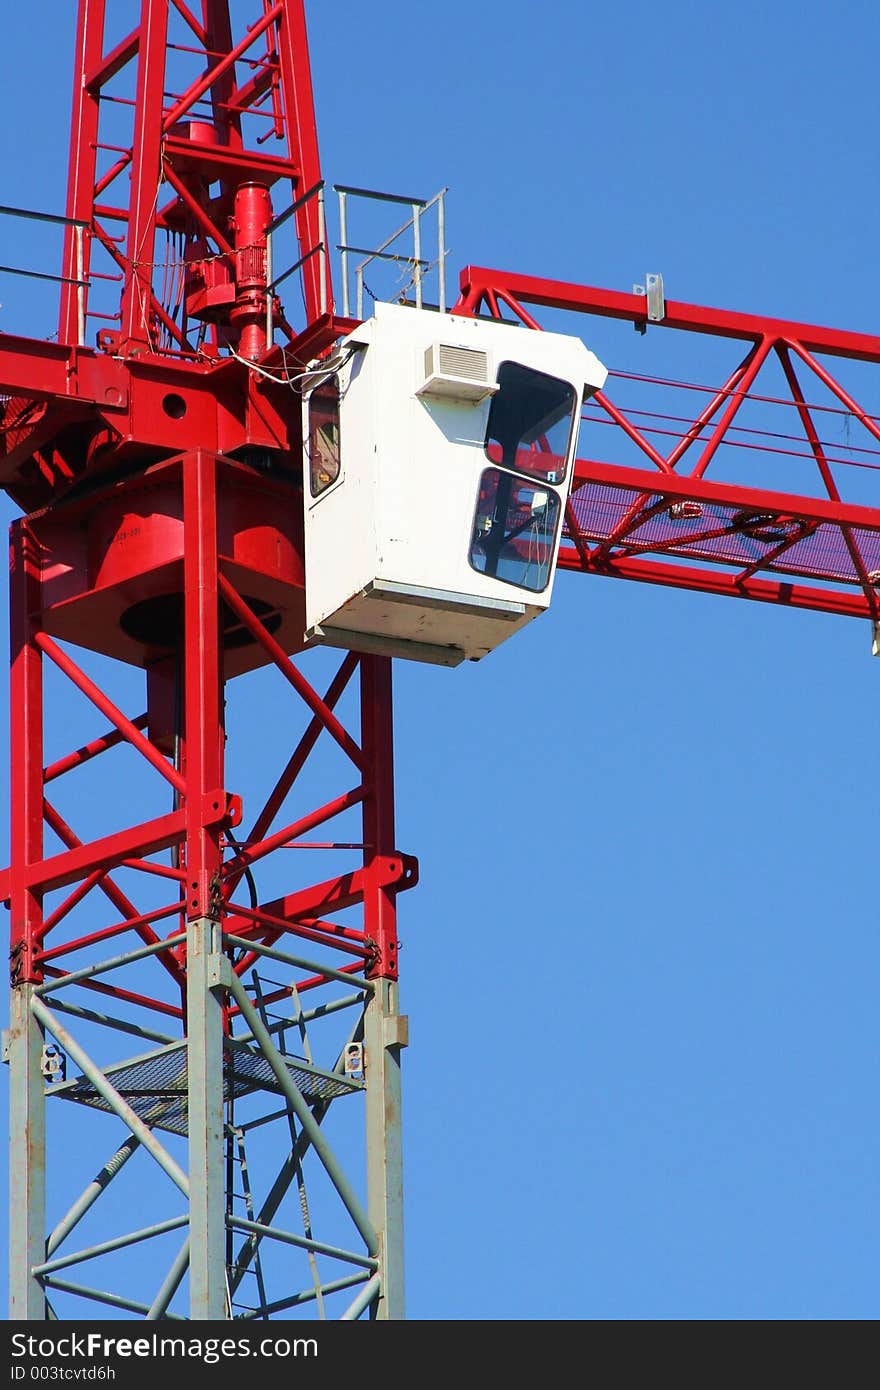
[[(78, 988), (182, 1020), (186, 962), (157, 930), (179, 935), (186, 916), (224, 922), (246, 942), (234, 956), (243, 980), (256, 947), (288, 938), (328, 972), (393, 979), (396, 899), (417, 865), (395, 844), (391, 663), (349, 653), (318, 691), (295, 662), (302, 425), (299, 396), (274, 368), (295, 373), (352, 327), (334, 313), (316, 253), (317, 199), (303, 199), (321, 170), (302, 0), (128, 10), (129, 31), (110, 43), (106, 0), (79, 3), (67, 211), (86, 231), (68, 229), (57, 342), (0, 338), (0, 486), (28, 513), (13, 525), (13, 849), (0, 895), (14, 983), (63, 979), (108, 942), (154, 949), (136, 980)], [(303, 259), (304, 316), (292, 328), (272, 300), (279, 349), (266, 338), (266, 238), (300, 199), (291, 261)], [(584, 411), (591, 448), (576, 467), (560, 569), (877, 617), (880, 512), (866, 493), (880, 423), (842, 373), (880, 364), (880, 338), (676, 302), (648, 324), (644, 296), (473, 267), (462, 277), (456, 313), (537, 328), (535, 307), (731, 348), (706, 384), (612, 363)], [(784, 396), (765, 389), (773, 363)], [(692, 393), (696, 409), (674, 403)], [(752, 407), (785, 410), (788, 424), (755, 424)], [(826, 439), (829, 411), (862, 431), (858, 457)], [(801, 468), (798, 486), (762, 471), (779, 459)], [(89, 652), (108, 664), (95, 673)], [(110, 728), (44, 767), (56, 713), (43, 709), (46, 656)], [(114, 695), (114, 663), (146, 673), (146, 713), (127, 714)], [(282, 770), (254, 808), (227, 787), (224, 705), (227, 685), (260, 666), (299, 721), (267, 731)], [(310, 777), (321, 746), (343, 755), (341, 785), (323, 770)], [(68, 787), (96, 758), (122, 755), (143, 776), (100, 808), (103, 820), (76, 802), (74, 830)], [(320, 847), (284, 855), (323, 824), (324, 849), (356, 856), (331, 877), (307, 867)], [(286, 887), (261, 895), (257, 877), (272, 865)], [(101, 898), (113, 915), (99, 923)], [(296, 988), (328, 979), (318, 967)]]

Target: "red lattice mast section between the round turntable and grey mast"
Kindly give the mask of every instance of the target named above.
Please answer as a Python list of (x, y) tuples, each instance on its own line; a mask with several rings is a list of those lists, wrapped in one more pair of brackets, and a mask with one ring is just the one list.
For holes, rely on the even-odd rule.
[[(242, 564), (224, 559), (218, 546), (217, 518), (218, 485), (224, 478), (225, 460), (207, 452), (196, 452), (181, 460), (172, 470), (175, 485), (182, 491), (181, 506), (171, 509), (182, 514), (184, 543), (182, 564), (172, 571), (175, 582), (182, 585), (182, 624), (167, 635), (168, 648), (179, 642), (181, 682), (185, 698), (181, 738), (177, 744), (177, 758), (150, 737), (150, 712), (129, 719), (117, 701), (100, 689), (96, 680), (86, 674), (60, 645), (49, 637), (46, 628), (56, 624), (54, 610), (65, 609), (75, 602), (88, 602), (89, 591), (71, 596), (68, 589), (58, 591), (54, 575), (56, 560), (44, 545), (46, 537), (54, 532), (53, 509), (36, 518), (22, 518), (14, 523), (13, 553), (13, 610), (22, 619), (15, 626), (17, 651), (14, 657), (13, 701), (13, 746), (15, 749), (15, 788), (18, 806), (17, 838), (13, 845), (13, 865), (0, 874), (0, 897), (8, 897), (14, 909), (14, 965), (17, 979), (39, 981), (47, 962), (61, 960), (64, 970), (76, 967), (81, 952), (110, 940), (135, 938), (145, 945), (158, 945), (160, 937), (153, 926), (167, 917), (177, 917), (184, 910), (189, 916), (211, 916), (227, 923), (231, 931), (246, 935), (249, 941), (271, 944), (288, 934), (303, 942), (317, 945), (332, 962), (335, 969), (346, 956), (355, 954), (371, 974), (396, 974), (396, 926), (395, 899), (399, 891), (412, 887), (417, 880), (416, 862), (398, 853), (393, 847), (392, 816), (392, 749), (391, 749), (391, 689), (389, 663), (384, 657), (345, 656), (341, 670), (328, 689), (327, 698), (318, 695), (300, 671), (292, 678), (295, 667), (278, 649), (266, 626), (253, 619), (249, 602), (242, 598), (236, 582), (253, 588)], [(107, 493), (115, 505), (115, 491)], [(161, 496), (165, 496), (163, 482)], [(90, 499), (90, 514), (101, 517), (103, 495)], [(49, 527), (49, 530), (40, 530)], [(117, 534), (111, 528), (111, 534)], [(100, 549), (97, 552), (101, 553)], [(39, 557), (28, 563), (28, 556)], [(127, 573), (127, 582), (131, 574)], [(150, 571), (152, 573), (152, 571)], [(160, 567), (160, 574), (163, 569)], [(281, 589), (281, 585), (279, 585)], [(299, 609), (300, 582), (286, 585), (288, 602)], [(150, 596), (149, 587), (136, 589), (140, 603), (163, 602), (167, 596), (167, 580)], [(174, 594), (171, 595), (174, 598)], [(306, 721), (306, 733), (299, 738), (285, 773), (268, 802), (257, 813), (250, 833), (239, 841), (234, 830), (241, 820), (239, 798), (224, 790), (224, 746), (222, 688), (227, 680), (224, 638), (229, 628), (218, 621), (221, 605), (232, 617), (247, 619), (234, 631), (253, 637), (254, 651), (263, 652), (263, 660), (279, 667), (281, 688), (291, 689), (292, 698), (300, 705)], [(278, 605), (284, 607), (284, 600)], [(26, 617), (26, 621), (25, 621)], [(253, 628), (253, 632), (250, 631)], [(24, 634), (24, 637), (22, 637)], [(100, 635), (100, 628), (97, 630)], [(106, 646), (114, 653), (114, 628), (104, 634)], [(97, 646), (96, 632), (92, 645)], [(152, 652), (152, 646), (147, 646)], [(110, 734), (101, 735), (81, 749), (56, 759), (46, 769), (42, 764), (42, 734), (25, 737), (25, 728), (39, 726), (40, 660), (50, 656), (63, 674), (92, 703), (100, 709), (114, 726)], [(281, 659), (279, 659), (281, 657)], [(158, 664), (168, 657), (158, 657)], [(252, 657), (253, 662), (253, 657)], [(246, 663), (247, 664), (247, 663)], [(353, 734), (334, 713), (345, 687), (350, 682), (355, 669), (361, 673), (361, 716), (359, 737)], [(234, 676), (239, 667), (236, 659), (231, 663)], [(36, 706), (36, 712), (35, 712)], [(146, 731), (145, 731), (146, 726)], [(332, 796), (325, 803), (299, 816), (295, 821), (271, 830), (282, 809), (285, 791), (296, 784), (299, 774), (309, 764), (320, 733), (324, 731), (345, 753), (360, 766), (360, 785)], [(128, 748), (138, 755), (145, 767), (163, 774), (156, 780), (161, 791), (163, 781), (171, 783), (177, 809), (165, 810), (150, 819), (133, 817), (131, 824), (121, 826), (110, 834), (81, 840), (46, 796), (47, 781), (63, 787), (71, 777), (96, 756), (111, 756), (111, 749)], [(175, 766), (177, 763), (177, 766)], [(32, 790), (31, 790), (32, 788)], [(263, 863), (300, 840), (318, 824), (332, 821), (336, 816), (361, 806), (363, 837), (357, 842), (363, 867), (332, 878), (324, 878), (314, 885), (303, 885), (285, 898), (274, 898), (247, 908), (232, 901), (236, 885), (252, 866)], [(36, 806), (32, 812), (29, 808)], [(122, 810), (122, 803), (117, 812)], [(26, 815), (25, 815), (26, 813)], [(49, 852), (42, 842), (40, 824), (44, 820), (53, 835), (61, 841), (61, 852)], [(334, 841), (327, 841), (332, 845)], [(352, 848), (349, 837), (343, 841)], [(39, 845), (39, 848), (38, 848)], [(181, 855), (182, 866), (174, 867), (152, 862), (161, 851), (172, 849)], [(299, 865), (298, 856), (298, 865)], [(292, 863), (288, 860), (286, 863)], [(114, 878), (121, 869), (136, 870), (140, 876), (185, 878), (185, 898), (170, 906), (143, 909), (133, 897), (124, 892)], [(289, 872), (289, 870), (288, 870)], [(46, 915), (40, 905), (46, 894), (60, 888), (68, 891)], [(104, 892), (121, 913), (108, 927), (82, 931), (79, 909), (90, 901), (95, 890)], [(363, 930), (353, 926), (339, 926), (323, 922), (327, 910), (359, 909), (363, 915)], [(21, 944), (19, 944), (21, 942)], [(338, 958), (338, 959), (336, 959)], [(249, 952), (238, 967), (243, 972), (256, 960)], [(157, 976), (156, 994), (136, 994), (106, 981), (81, 981), (83, 987), (99, 984), (110, 997), (136, 1006), (160, 1009), (171, 1004), (163, 987), (163, 977), (171, 984), (185, 987), (185, 962), (178, 954), (160, 951), (156, 965), (164, 967)], [(146, 1001), (146, 1002), (145, 1002)]]

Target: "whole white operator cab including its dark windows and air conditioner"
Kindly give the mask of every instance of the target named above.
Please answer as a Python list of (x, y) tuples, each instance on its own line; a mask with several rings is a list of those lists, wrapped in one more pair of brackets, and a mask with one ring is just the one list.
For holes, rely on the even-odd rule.
[(306, 377), (306, 637), (457, 666), (551, 602), (578, 338), (377, 303)]

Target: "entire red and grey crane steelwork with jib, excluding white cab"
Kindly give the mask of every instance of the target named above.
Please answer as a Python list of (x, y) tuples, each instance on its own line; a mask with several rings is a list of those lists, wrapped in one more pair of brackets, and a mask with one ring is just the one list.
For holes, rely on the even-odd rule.
[[(122, 31), (104, 0), (81, 0), (57, 339), (0, 336), (0, 482), (22, 510), (0, 894), (14, 1318), (83, 1300), (158, 1318), (185, 1287), (193, 1318), (403, 1315), (396, 898), (417, 866), (395, 837), (392, 667), (352, 649), (317, 689), (292, 660), (309, 645), (299, 398), (360, 316), (336, 313), (302, 0), (242, 8), (131, 0)], [(282, 268), (285, 228), (296, 252)], [(418, 247), (412, 264), (420, 293)], [(278, 293), (289, 271), (300, 322)], [(880, 439), (834, 370), (880, 361), (880, 339), (667, 302), (659, 277), (628, 295), (467, 267), (453, 314), (538, 328), (542, 307), (731, 350), (666, 450), (613, 389), (594, 393), (585, 417), (614, 442), (577, 460), (559, 567), (877, 623), (880, 514), (841, 496), (806, 382)], [(762, 391), (772, 360), (815, 474), (799, 492), (713, 477), (745, 411), (783, 407)], [(601, 452), (606, 435), (585, 436)], [(104, 723), (49, 760), (50, 667)], [(275, 776), (252, 801), (228, 784), (224, 708), (227, 685), (257, 671), (289, 688), (298, 734), (267, 733)], [(334, 745), (329, 783), (311, 774), (318, 739)], [(122, 756), (113, 805), (67, 791)], [(65, 1175), (51, 1230), (47, 1093), (125, 1131), (93, 1180)], [(331, 1138), (357, 1095), (363, 1180)], [(278, 1127), (284, 1143), (260, 1148)], [(261, 1190), (254, 1152), (274, 1162)], [(164, 1173), (161, 1198), (124, 1236), (72, 1251), (132, 1159)], [(278, 1215), (289, 1207), (296, 1229)], [(121, 1286), (82, 1273), (145, 1241), (170, 1245), (158, 1282), (131, 1258)]]

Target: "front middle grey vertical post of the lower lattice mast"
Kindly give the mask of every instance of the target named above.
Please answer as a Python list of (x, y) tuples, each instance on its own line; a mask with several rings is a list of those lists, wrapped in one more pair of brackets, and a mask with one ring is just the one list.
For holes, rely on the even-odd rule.
[(189, 923), (186, 1066), (189, 1109), (189, 1316), (229, 1316), (227, 1300), (222, 1127), (221, 931), (211, 917)]

